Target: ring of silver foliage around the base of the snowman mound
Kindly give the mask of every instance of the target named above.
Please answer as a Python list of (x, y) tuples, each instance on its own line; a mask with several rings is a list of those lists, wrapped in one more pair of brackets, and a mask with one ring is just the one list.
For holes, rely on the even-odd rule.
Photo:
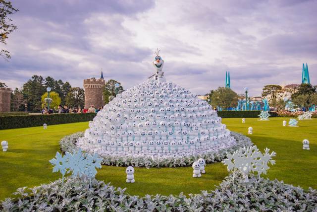
[[(115, 156), (101, 156), (103, 158), (102, 164), (105, 165), (115, 165), (115, 166), (134, 166), (140, 167), (145, 166), (147, 168), (151, 167), (179, 167), (179, 166), (191, 166), (193, 162), (197, 161), (199, 158), (203, 158), (206, 163), (220, 162), (226, 158), (226, 152), (233, 153), (240, 147), (251, 146), (251, 140), (238, 133), (231, 132), (237, 142), (236, 144), (230, 146), (229, 148), (224, 148), (218, 151), (196, 153), (189, 156), (165, 156), (165, 157), (152, 157), (143, 156), (138, 157), (130, 155), (115, 155)], [(60, 149), (64, 152), (74, 151), (78, 149), (75, 145), (78, 138), (83, 137), (83, 133), (75, 133), (70, 136), (66, 136), (59, 141)]]

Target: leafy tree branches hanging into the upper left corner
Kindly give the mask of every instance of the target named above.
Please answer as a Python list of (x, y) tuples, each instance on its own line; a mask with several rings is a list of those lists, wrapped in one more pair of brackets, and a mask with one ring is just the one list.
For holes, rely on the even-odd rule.
[[(8, 34), (17, 28), (10, 23), (12, 19), (7, 16), (14, 14), (17, 11), (19, 10), (12, 6), (11, 1), (0, 0), (0, 43), (3, 43), (4, 45), (6, 45)], [(8, 61), (11, 58), (10, 53), (4, 49), (1, 49), (0, 55), (5, 61)]]

